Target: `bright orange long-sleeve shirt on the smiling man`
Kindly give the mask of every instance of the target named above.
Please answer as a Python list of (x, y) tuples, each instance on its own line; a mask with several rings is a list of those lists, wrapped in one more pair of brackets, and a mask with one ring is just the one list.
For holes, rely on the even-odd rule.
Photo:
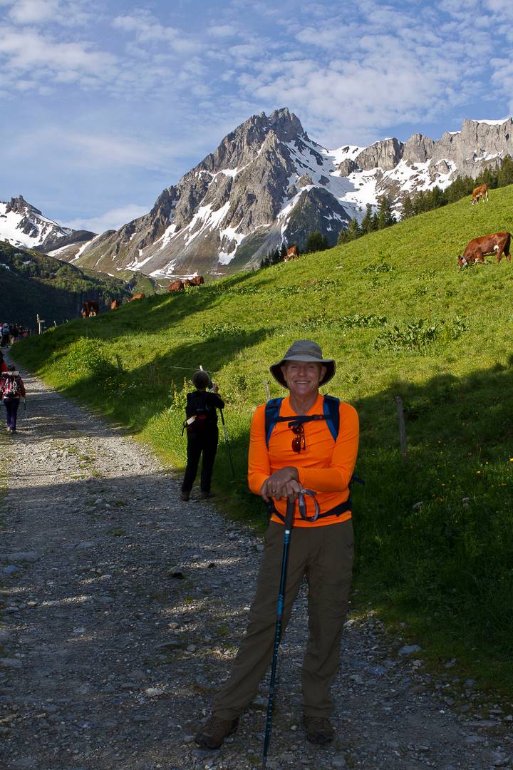
[[(321, 393), (307, 414), (322, 414)], [(321, 514), (331, 511), (336, 505), (345, 503), (349, 497), (348, 484), (351, 480), (358, 454), (358, 414), (349, 403), (341, 401), (339, 407), (340, 427), (335, 444), (326, 420), (312, 420), (304, 423), (305, 450), (292, 450), (294, 434), (288, 423), (276, 423), (265, 445), (265, 404), (257, 407), (252, 418), (249, 437), (248, 482), (255, 494), (260, 494), (261, 485), (276, 470), (286, 466), (298, 469), (299, 483), (304, 489), (315, 492)], [(289, 397), (281, 402), (280, 417), (295, 417)], [(305, 496), (308, 516), (315, 511), (313, 501)], [(276, 510), (285, 516), (286, 500), (275, 500)], [(322, 527), (351, 518), (351, 511), (340, 516), (327, 516), (315, 523), (304, 521), (296, 506), (295, 527)], [(281, 520), (273, 514), (271, 521)]]

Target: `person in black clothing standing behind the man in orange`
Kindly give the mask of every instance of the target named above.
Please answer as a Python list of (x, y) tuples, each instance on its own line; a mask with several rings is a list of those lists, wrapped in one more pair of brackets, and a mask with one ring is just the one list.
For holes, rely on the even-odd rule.
[[(218, 409), (225, 402), (218, 396), (217, 385), (211, 383), (208, 373), (195, 372), (192, 384), (196, 390), (187, 393), (184, 430), (187, 430), (187, 467), (182, 484), (182, 500), (191, 496), (192, 484), (198, 473), (199, 458), (203, 454), (201, 489), (202, 497), (212, 497), (210, 484), (214, 470), (215, 453), (218, 450)], [(213, 393), (207, 388), (212, 386)]]

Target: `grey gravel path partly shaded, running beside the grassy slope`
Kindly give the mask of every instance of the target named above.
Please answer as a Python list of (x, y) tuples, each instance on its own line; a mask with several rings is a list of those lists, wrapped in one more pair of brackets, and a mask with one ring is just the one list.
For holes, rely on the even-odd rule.
[[(245, 628), (260, 539), (178, 502), (178, 480), (149, 450), (26, 383), (28, 416), (15, 437), (0, 434), (0, 766), (259, 767), (264, 685), (221, 751), (192, 735)], [(301, 592), (268, 768), (511, 767), (511, 715), (479, 710), (470, 681), (456, 710), (450, 666), (433, 683), (402, 644), (372, 614), (348, 620), (338, 736), (315, 748), (300, 721)]]

